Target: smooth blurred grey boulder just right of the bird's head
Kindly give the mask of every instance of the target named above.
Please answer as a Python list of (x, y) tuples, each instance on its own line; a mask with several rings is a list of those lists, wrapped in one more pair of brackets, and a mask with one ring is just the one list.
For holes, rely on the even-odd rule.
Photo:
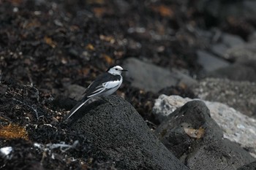
[(178, 70), (173, 69), (170, 72), (168, 69), (140, 61), (137, 58), (128, 58), (124, 61), (123, 67), (129, 70), (128, 77), (132, 80), (132, 86), (155, 93), (172, 85), (191, 86), (197, 83), (192, 77)]

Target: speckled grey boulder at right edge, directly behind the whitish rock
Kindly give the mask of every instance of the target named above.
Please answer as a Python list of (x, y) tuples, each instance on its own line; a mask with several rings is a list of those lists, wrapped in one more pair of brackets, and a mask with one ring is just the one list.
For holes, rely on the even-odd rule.
[(206, 78), (192, 87), (195, 95), (207, 101), (227, 104), (244, 115), (256, 115), (256, 83)]

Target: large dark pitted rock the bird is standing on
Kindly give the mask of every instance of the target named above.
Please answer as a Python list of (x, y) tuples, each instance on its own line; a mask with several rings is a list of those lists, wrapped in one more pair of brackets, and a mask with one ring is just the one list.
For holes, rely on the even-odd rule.
[(188, 169), (120, 97), (95, 101), (82, 107), (75, 117), (72, 127), (92, 136), (92, 142), (120, 169)]

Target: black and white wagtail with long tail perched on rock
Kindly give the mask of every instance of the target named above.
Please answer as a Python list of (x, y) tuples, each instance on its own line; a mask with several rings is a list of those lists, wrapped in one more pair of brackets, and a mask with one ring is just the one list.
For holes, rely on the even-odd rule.
[(91, 85), (86, 88), (83, 93), (83, 98), (70, 110), (69, 114), (64, 117), (64, 120), (69, 119), (69, 117), (78, 111), (83, 104), (86, 104), (90, 98), (110, 96), (113, 94), (123, 82), (123, 77), (121, 76), (122, 72), (127, 72), (127, 70), (121, 68), (121, 66), (113, 66), (110, 67), (107, 72), (97, 77), (97, 79), (91, 82)]

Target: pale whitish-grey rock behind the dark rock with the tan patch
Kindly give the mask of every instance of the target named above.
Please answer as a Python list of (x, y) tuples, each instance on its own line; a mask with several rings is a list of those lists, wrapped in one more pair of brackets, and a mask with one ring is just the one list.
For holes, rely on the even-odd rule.
[[(154, 105), (153, 114), (160, 122), (163, 122), (173, 111), (192, 100), (181, 96), (161, 95)], [(225, 104), (213, 101), (203, 102), (210, 110), (211, 118), (222, 128), (223, 137), (232, 142), (237, 142), (256, 157), (256, 120)]]

